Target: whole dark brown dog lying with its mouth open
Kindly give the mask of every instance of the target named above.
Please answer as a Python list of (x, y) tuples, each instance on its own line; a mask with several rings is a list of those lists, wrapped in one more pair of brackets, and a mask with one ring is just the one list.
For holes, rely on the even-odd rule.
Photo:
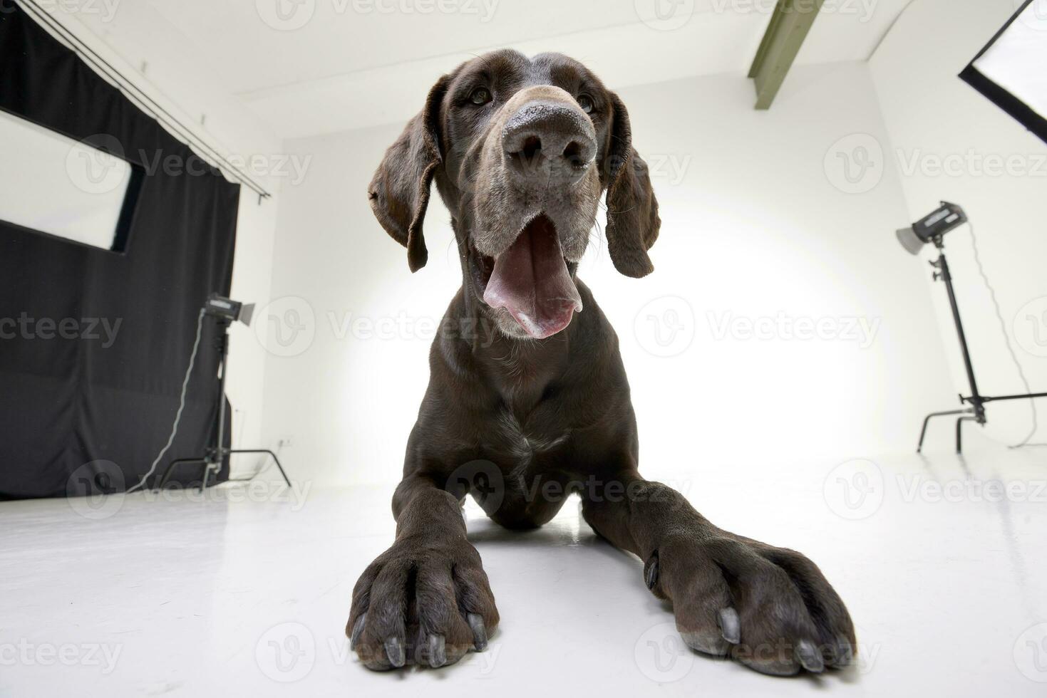
[(466, 494), (524, 528), (573, 492), (594, 531), (646, 561), (695, 650), (779, 675), (849, 663), (853, 626), (812, 562), (717, 528), (637, 470), (618, 337), (575, 276), (604, 190), (615, 267), (653, 269), (658, 203), (618, 95), (555, 53), (496, 51), (441, 77), (369, 189), (411, 271), (426, 262), (433, 179), (463, 285), (430, 351), (396, 541), (353, 591), (347, 632), (363, 665), (440, 667), (486, 646), (498, 611), (466, 539)]

